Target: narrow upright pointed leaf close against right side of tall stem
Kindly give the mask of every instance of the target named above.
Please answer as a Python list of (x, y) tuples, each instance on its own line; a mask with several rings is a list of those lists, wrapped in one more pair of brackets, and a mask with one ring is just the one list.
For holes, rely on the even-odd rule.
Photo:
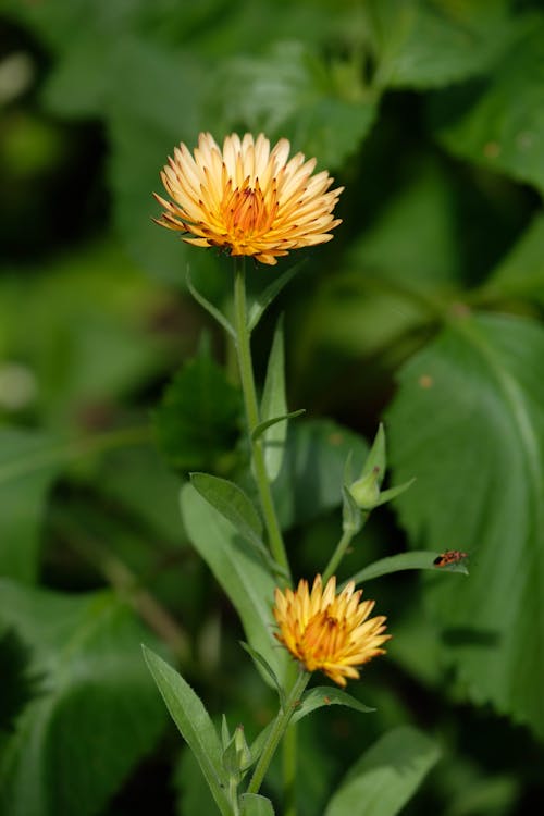
[[(285, 396), (285, 350), (283, 342), (283, 320), (277, 322), (270, 349), (267, 379), (262, 393), (260, 416), (263, 422), (287, 415)], [(282, 468), (287, 422), (274, 422), (263, 431), (264, 463), (269, 480), (273, 482)]]

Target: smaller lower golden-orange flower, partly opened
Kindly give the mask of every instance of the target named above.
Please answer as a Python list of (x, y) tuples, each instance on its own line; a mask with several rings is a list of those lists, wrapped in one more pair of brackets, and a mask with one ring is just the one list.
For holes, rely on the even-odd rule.
[(383, 634), (386, 618), (369, 619), (374, 602), (360, 603), (362, 590), (354, 590), (350, 581), (336, 595), (334, 577), (323, 590), (321, 576), (313, 581), (311, 593), (305, 580), (295, 592), (275, 590), (277, 640), (308, 671), (320, 669), (343, 687), (346, 678), (359, 678), (357, 667), (385, 653), (380, 646), (391, 638)]

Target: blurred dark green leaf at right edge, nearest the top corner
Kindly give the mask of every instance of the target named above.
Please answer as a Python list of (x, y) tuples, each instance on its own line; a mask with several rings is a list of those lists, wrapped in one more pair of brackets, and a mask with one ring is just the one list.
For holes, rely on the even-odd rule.
[(433, 104), (436, 134), (454, 154), (544, 190), (544, 17), (528, 17), (480, 89), (453, 90)]

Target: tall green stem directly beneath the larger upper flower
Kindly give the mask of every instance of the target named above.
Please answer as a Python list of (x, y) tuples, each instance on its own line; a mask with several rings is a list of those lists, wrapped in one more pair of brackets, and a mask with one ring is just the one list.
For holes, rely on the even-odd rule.
[(276, 562), (290, 576), (289, 562), (283, 543), (282, 531), (275, 512), (272, 491), (264, 463), (262, 440), (254, 440), (252, 433), (259, 424), (259, 406), (255, 388), (254, 367), (251, 362), (250, 332), (247, 321), (245, 258), (235, 258), (234, 267), (234, 329), (236, 332), (236, 351), (244, 392), (244, 404), (248, 424), (249, 440), (255, 480), (259, 491), (262, 515), (269, 535), (269, 546)]

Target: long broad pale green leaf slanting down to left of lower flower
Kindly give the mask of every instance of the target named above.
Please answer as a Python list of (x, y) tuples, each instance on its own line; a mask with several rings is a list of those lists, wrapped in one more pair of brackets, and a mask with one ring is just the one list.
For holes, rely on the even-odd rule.
[[(238, 613), (247, 640), (283, 682), (287, 652), (273, 636), (275, 581), (262, 559), (191, 485), (182, 490), (182, 516), (193, 545)], [(267, 672), (263, 678), (269, 682)]]

